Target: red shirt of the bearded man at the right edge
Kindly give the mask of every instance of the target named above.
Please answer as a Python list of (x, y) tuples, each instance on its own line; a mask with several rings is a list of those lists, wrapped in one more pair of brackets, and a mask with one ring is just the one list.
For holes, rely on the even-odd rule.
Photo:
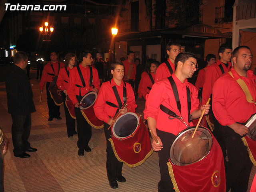
[(242, 88), (236, 80), (241, 78), (248, 86), (252, 98), (256, 101), (256, 76), (251, 70), (247, 71), (247, 78), (239, 76), (232, 68), (230, 74), (225, 73), (214, 83), (212, 90), (212, 110), (218, 122), (231, 125), (235, 122), (244, 123), (256, 112), (254, 103), (248, 103)]

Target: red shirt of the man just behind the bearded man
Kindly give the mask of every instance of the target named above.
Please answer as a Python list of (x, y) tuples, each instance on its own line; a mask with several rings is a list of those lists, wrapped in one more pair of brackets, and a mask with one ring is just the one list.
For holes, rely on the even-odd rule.
[(216, 63), (212, 64), (207, 68), (202, 92), (202, 104), (206, 104), (206, 101), (208, 100), (208, 98), (210, 98), (212, 94), (212, 87), (214, 85), (214, 82), (220, 75), (222, 75), (222, 72), (219, 67), (220, 64), (222, 65), (225, 73), (230, 71), (230, 67), (232, 65), (230, 62), (228, 62), (227, 68), (222, 62), (220, 62), (220, 60), (217, 60)]

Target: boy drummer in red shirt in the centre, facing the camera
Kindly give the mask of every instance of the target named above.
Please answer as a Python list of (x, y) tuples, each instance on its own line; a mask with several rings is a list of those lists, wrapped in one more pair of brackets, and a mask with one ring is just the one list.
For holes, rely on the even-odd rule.
[[(108, 128), (114, 123), (113, 117), (118, 112), (118, 109), (121, 114), (126, 114), (127, 112), (135, 112), (137, 105), (135, 104), (132, 86), (122, 80), (124, 77), (124, 65), (122, 63), (112, 63), (111, 74), (113, 78), (103, 83), (100, 87), (97, 100), (94, 104), (94, 112), (100, 120), (104, 121), (104, 132), (107, 141), (106, 168), (109, 185), (112, 188), (118, 188), (116, 180), (125, 182), (126, 179), (122, 176), (123, 162), (117, 160), (111, 143), (108, 140), (111, 138), (111, 129), (108, 130)], [(127, 101), (127, 106), (120, 109), (125, 103), (125, 100)]]

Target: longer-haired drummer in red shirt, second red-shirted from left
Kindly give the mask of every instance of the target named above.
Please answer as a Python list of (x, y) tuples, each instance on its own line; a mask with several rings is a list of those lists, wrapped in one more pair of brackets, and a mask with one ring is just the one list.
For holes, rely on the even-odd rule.
[(64, 106), (64, 111), (65, 111), (65, 116), (66, 116), (66, 126), (67, 126), (67, 132), (68, 132), (68, 137), (71, 137), (75, 134), (76, 132), (76, 120), (70, 116), (70, 113), (68, 112), (68, 108), (65, 104), (66, 96), (68, 96), (68, 77), (70, 70), (75, 66), (76, 64), (76, 56), (73, 53), (68, 53), (65, 56), (65, 67), (60, 69), (58, 79), (57, 79), (57, 86), (60, 90), (62, 90), (62, 100), (63, 100), (63, 106)]

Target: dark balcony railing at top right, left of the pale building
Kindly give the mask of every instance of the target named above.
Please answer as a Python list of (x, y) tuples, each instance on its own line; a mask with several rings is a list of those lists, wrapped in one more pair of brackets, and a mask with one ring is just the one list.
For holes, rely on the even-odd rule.
[(233, 8), (227, 9), (225, 6), (215, 8), (215, 23), (232, 21)]

